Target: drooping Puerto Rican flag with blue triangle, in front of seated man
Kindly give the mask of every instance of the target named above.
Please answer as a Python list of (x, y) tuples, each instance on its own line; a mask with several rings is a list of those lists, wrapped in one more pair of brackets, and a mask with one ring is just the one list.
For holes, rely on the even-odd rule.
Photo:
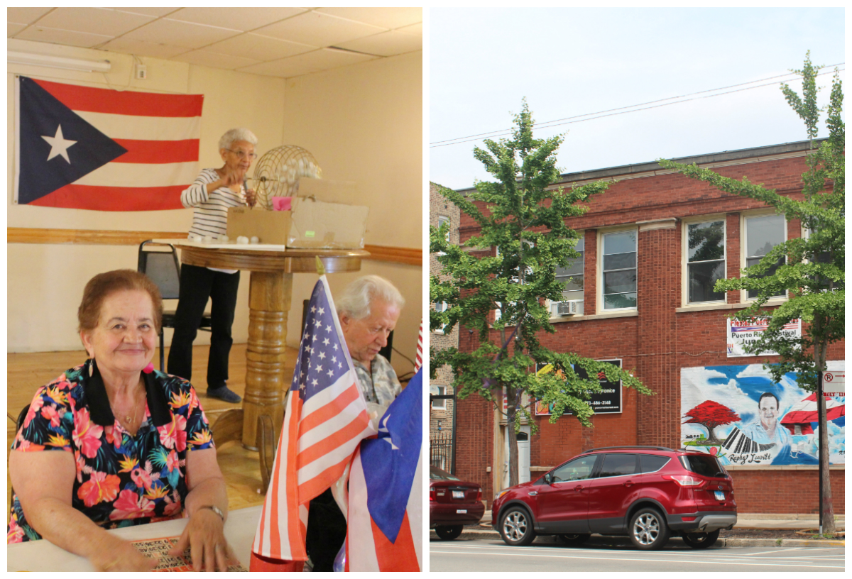
[(346, 569), (423, 569), (423, 370), (385, 410), (349, 475)]

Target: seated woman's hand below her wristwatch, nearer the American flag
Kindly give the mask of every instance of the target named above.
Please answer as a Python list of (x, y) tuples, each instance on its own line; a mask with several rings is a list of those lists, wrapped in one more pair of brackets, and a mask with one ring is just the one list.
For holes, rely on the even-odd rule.
[(209, 508), (199, 508), (189, 518), (180, 541), (169, 555), (177, 557), (189, 547), (193, 570), (227, 571), (227, 566), (233, 565), (237, 558), (227, 544), (224, 529), (225, 523), (219, 515)]

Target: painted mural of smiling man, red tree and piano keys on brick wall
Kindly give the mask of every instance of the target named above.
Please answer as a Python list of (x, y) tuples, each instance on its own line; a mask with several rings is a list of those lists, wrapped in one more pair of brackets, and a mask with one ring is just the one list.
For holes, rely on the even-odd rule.
[[(842, 360), (826, 365), (843, 374)], [(845, 393), (825, 397), (829, 463), (844, 464)], [(774, 382), (763, 364), (683, 368), (681, 422), (682, 446), (723, 465), (819, 464), (816, 393), (792, 372)]]

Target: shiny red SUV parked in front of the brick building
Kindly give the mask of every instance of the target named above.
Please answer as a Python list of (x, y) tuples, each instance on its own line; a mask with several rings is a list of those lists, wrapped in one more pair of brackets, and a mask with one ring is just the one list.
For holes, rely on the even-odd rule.
[(569, 545), (592, 533), (626, 535), (662, 548), (672, 531), (690, 547), (716, 542), (737, 522), (731, 477), (715, 456), (662, 446), (588, 450), (538, 480), (503, 490), (492, 526), (509, 545), (558, 535)]

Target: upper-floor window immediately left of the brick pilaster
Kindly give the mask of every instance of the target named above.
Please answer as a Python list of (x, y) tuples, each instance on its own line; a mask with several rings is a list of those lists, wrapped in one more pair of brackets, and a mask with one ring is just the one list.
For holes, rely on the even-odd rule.
[(603, 309), (636, 309), (636, 230), (604, 233), (602, 245)]

